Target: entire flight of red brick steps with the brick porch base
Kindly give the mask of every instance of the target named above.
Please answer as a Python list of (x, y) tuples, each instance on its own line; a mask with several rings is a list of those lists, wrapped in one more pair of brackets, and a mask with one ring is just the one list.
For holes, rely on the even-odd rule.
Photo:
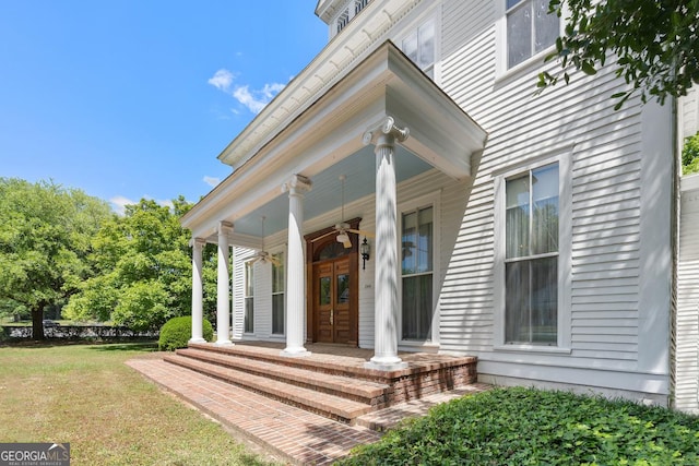
[(289, 358), (281, 356), (279, 347), (190, 344), (163, 360), (351, 426), (369, 413), (476, 380), (473, 357), (406, 354), (401, 356), (407, 369), (386, 372), (366, 369), (366, 358), (347, 351), (330, 348)]

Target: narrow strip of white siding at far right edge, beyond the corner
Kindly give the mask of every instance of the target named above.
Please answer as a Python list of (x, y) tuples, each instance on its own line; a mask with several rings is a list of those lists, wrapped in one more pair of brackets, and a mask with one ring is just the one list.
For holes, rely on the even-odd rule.
[(699, 413), (699, 175), (683, 179), (675, 407)]

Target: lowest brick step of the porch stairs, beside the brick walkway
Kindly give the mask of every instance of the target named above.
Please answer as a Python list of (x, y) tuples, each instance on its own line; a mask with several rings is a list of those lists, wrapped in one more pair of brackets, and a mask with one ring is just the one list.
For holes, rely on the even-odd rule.
[(256, 375), (212, 362), (196, 360), (177, 354), (165, 356), (163, 359), (169, 363), (226, 381), (233, 385), (263, 394), (270, 398), (348, 425), (354, 425), (357, 417), (375, 409), (371, 405), (365, 403), (304, 389), (266, 377)]

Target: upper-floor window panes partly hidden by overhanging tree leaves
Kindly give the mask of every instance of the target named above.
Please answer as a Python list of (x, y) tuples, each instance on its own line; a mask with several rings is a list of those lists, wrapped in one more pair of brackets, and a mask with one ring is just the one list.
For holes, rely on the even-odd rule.
[(512, 68), (556, 43), (558, 16), (549, 0), (507, 1), (507, 65)]

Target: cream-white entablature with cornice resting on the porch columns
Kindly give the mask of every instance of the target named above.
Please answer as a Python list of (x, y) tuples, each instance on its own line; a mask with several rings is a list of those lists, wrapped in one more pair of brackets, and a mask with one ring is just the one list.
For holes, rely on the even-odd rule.
[[(194, 237), (214, 239), (221, 220), (250, 222), (293, 175), (312, 180), (365, 150), (366, 131), (387, 118), (410, 128), (401, 145), (414, 156), (458, 180), (472, 175), (471, 157), (483, 150), (487, 133), (387, 41), (197, 204), (182, 225)], [(276, 230), (271, 226), (268, 232)], [(254, 236), (240, 229), (233, 236), (238, 234)], [(246, 236), (230, 240), (254, 242)]]

